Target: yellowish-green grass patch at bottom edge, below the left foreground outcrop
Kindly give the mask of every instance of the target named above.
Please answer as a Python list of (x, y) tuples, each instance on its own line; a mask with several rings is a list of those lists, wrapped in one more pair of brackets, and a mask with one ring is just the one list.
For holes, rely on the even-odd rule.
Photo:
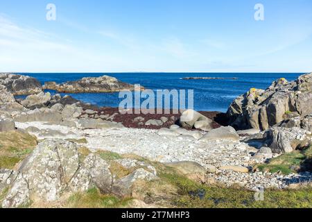
[(132, 198), (120, 199), (112, 195), (103, 195), (98, 189), (89, 189), (85, 193), (71, 195), (65, 207), (71, 208), (119, 208), (127, 207)]

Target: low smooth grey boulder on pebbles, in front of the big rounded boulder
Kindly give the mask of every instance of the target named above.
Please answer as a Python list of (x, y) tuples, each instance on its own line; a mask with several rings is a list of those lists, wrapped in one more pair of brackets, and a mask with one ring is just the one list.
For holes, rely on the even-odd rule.
[(222, 126), (220, 128), (210, 130), (200, 140), (209, 141), (209, 140), (217, 140), (217, 139), (229, 139), (229, 140), (238, 141), (240, 137), (236, 133), (236, 130), (232, 128), (231, 126), (227, 126), (227, 127)]

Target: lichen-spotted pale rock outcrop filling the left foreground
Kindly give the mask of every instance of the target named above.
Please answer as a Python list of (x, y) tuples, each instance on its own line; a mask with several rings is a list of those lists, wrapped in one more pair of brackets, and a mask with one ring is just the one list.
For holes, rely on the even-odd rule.
[(128, 174), (119, 177), (114, 170), (116, 167), (112, 167), (118, 162), (104, 160), (94, 153), (83, 159), (73, 142), (46, 139), (17, 171), (0, 170), (0, 189), (10, 187), (2, 207), (22, 207), (31, 201), (49, 203), (59, 200), (63, 194), (92, 187), (103, 194), (131, 196), (132, 185), (137, 180), (157, 179), (155, 168), (137, 160), (133, 163), (123, 166), (128, 167)]

